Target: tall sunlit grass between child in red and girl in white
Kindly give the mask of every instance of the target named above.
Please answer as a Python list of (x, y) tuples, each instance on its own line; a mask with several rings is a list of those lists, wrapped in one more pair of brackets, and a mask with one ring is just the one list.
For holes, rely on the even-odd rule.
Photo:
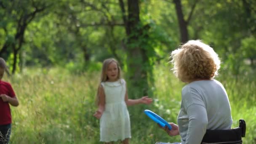
[(92, 117), (97, 77), (48, 69), (16, 75), (11, 83), (20, 101), (12, 107), (13, 144), (83, 144), (96, 136)]

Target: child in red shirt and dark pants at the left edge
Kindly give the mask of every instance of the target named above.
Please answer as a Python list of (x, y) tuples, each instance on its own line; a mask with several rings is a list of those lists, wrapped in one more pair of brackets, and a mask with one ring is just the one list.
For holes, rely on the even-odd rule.
[(19, 101), (10, 83), (2, 81), (7, 71), (5, 60), (0, 58), (0, 144), (8, 144), (11, 135), (11, 109), (19, 105)]

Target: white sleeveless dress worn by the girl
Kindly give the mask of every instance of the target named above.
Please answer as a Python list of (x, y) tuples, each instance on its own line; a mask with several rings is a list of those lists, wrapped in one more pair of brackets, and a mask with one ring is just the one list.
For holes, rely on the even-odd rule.
[(125, 80), (102, 82), (105, 111), (100, 119), (100, 141), (110, 142), (131, 138), (130, 116), (125, 104)]

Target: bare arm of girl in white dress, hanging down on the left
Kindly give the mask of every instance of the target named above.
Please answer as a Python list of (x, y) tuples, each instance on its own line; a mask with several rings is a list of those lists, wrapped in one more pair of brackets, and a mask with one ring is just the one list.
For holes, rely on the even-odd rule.
[(101, 118), (101, 115), (103, 114), (105, 110), (105, 93), (102, 85), (99, 86), (99, 104), (98, 104), (98, 110), (95, 112), (93, 116), (97, 117), (98, 119)]

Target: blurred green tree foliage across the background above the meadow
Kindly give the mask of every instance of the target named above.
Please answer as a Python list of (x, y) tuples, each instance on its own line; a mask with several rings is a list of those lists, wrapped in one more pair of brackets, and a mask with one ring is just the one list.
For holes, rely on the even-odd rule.
[[(125, 45), (125, 33), (120, 5), (115, 0), (57, 0), (34, 1), (38, 8), (46, 5), (47, 11), (38, 13), (30, 21), (24, 35), (24, 45), (18, 55), (25, 65), (47, 67), (76, 61), (103, 61), (118, 59), (122, 66), (129, 48), (145, 51), (148, 62), (141, 66), (149, 72), (155, 61), (160, 61), (179, 44), (179, 23), (172, 1), (139, 3), (141, 23), (132, 35), (138, 39)], [(189, 18), (195, 0), (182, 0), (184, 19)], [(126, 4), (126, 1), (125, 1)], [(188, 23), (189, 39), (202, 39), (219, 53), (225, 67), (234, 70), (249, 62), (255, 68), (255, 2), (253, 0), (200, 1), (196, 3)], [(17, 22), (35, 10), (32, 1), (23, 0), (14, 5), (1, 2), (0, 50), (5, 43), (16, 43)], [(127, 5), (125, 5), (127, 6)], [(127, 7), (125, 7), (127, 10)], [(127, 13), (125, 13), (127, 16)], [(27, 20), (28, 21), (28, 20)], [(27, 22), (25, 21), (25, 22)], [(117, 24), (117, 25), (115, 25)], [(130, 36), (132, 36), (130, 35)], [(9, 59), (8, 48), (2, 57)], [(239, 55), (242, 53), (242, 55)], [(11, 59), (10, 59), (11, 60)], [(13, 59), (12, 59), (13, 60)], [(245, 62), (244, 62), (245, 61)], [(133, 62), (133, 61), (132, 61)], [(21, 64), (19, 64), (21, 66)], [(247, 68), (246, 68), (247, 69)]]

